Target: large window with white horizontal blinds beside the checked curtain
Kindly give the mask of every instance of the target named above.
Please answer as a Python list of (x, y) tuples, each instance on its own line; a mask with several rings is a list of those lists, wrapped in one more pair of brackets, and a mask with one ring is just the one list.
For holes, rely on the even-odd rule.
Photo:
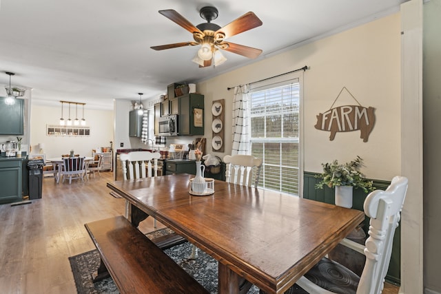
[(299, 80), (255, 87), (249, 97), (252, 155), (263, 158), (259, 187), (298, 196)]

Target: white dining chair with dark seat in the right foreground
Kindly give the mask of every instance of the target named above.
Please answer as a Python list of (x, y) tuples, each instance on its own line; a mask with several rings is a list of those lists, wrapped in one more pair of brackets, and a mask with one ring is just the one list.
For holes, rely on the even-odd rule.
[(361, 277), (338, 262), (322, 258), (285, 294), (305, 291), (311, 294), (380, 294), (391, 260), (393, 235), (400, 222), (407, 182), (407, 178), (396, 176), (385, 191), (376, 190), (367, 196), (364, 209), (371, 220), (365, 246), (347, 239), (340, 243), (366, 255)]

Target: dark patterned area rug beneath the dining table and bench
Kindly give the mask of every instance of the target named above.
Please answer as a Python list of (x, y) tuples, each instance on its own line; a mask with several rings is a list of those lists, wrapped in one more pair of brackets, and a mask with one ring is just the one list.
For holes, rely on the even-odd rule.
[[(168, 233), (168, 229), (162, 229), (147, 234), (149, 238), (156, 238), (159, 235)], [(164, 250), (177, 264), (202, 284), (209, 293), (216, 294), (218, 286), (218, 262), (207, 253), (198, 250), (198, 258), (190, 260), (192, 244), (186, 242)], [(72, 273), (74, 275), (76, 291), (79, 294), (101, 294), (119, 293), (112, 278), (107, 278), (100, 282), (93, 283), (91, 274), (98, 269), (100, 257), (97, 250), (88, 251), (69, 258)], [(248, 294), (257, 294), (259, 289), (252, 286)]]

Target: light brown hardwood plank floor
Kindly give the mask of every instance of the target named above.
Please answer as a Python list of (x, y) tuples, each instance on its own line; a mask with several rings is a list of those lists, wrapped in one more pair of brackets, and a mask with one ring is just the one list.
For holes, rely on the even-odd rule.
[[(41, 199), (0, 205), (1, 293), (76, 293), (68, 258), (94, 249), (84, 224), (124, 214), (125, 201), (110, 196), (108, 180), (112, 172), (71, 185), (46, 177)], [(153, 231), (153, 220), (140, 229)], [(398, 287), (387, 284), (383, 293), (396, 294)]]

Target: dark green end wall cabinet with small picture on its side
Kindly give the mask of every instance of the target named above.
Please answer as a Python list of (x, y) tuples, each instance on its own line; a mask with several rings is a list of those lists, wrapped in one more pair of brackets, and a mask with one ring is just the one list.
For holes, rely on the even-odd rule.
[[(179, 136), (195, 136), (204, 134), (204, 96), (201, 94), (190, 93), (183, 96), (179, 96)], [(201, 112), (201, 125), (195, 123), (194, 110), (200, 109)]]

